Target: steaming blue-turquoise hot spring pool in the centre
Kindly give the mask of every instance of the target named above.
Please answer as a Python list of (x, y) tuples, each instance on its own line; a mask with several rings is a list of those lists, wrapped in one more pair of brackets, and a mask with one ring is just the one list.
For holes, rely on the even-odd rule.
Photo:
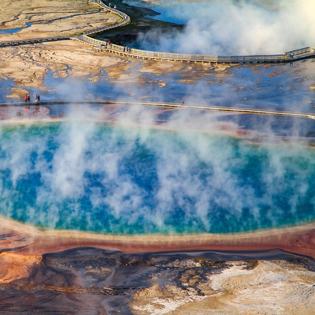
[(315, 151), (93, 123), (2, 127), (0, 214), (106, 233), (238, 232), (315, 219)]

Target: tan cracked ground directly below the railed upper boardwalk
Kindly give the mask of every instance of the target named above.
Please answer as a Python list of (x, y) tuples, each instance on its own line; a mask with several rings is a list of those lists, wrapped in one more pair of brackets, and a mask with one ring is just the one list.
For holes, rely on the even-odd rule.
[[(152, 85), (154, 80), (148, 80), (147, 74), (161, 75), (165, 72), (182, 71), (187, 73), (185, 83), (194, 84), (198, 77), (204, 75), (212, 81), (222, 80), (226, 75), (224, 66), (218, 64), (176, 63), (165, 61), (138, 61), (117, 54), (97, 52), (93, 47), (77, 40), (63, 40), (36, 45), (21, 45), (2, 47), (3, 61), (0, 68), (0, 79), (12, 79), (19, 88), (12, 88), (9, 98), (23, 97), (29, 93), (26, 87), (40, 88), (50, 91), (44, 86), (43, 80), (49, 71), (56, 78), (85, 78), (98, 82), (104, 77), (111, 82)], [(137, 68), (137, 70), (135, 70)], [(219, 70), (221, 70), (219, 72)], [(211, 71), (211, 72), (210, 72)], [(158, 79), (158, 86), (165, 86)], [(132, 92), (130, 92), (132, 95)]]

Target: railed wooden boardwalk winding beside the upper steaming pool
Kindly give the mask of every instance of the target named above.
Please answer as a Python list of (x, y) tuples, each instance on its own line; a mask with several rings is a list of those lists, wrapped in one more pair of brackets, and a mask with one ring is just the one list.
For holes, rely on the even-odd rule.
[[(12, 45), (22, 45), (43, 41), (52, 41), (52, 40), (64, 40), (64, 39), (73, 39), (84, 42), (85, 44), (95, 47), (98, 51), (109, 51), (112, 53), (117, 53), (120, 55), (126, 55), (138, 59), (153, 59), (153, 60), (169, 60), (169, 61), (186, 61), (186, 62), (202, 62), (202, 63), (287, 63), (294, 62), (305, 58), (314, 58), (315, 57), (315, 48), (314, 47), (305, 47), (301, 49), (296, 49), (293, 51), (286, 52), (282, 55), (253, 55), (253, 56), (214, 56), (214, 55), (197, 55), (197, 54), (173, 54), (167, 52), (155, 52), (129, 48), (126, 50), (124, 46), (107, 44), (106, 41), (97, 40), (90, 35), (96, 34), (98, 32), (108, 31), (114, 28), (121, 27), (130, 22), (130, 17), (126, 13), (119, 11), (113, 7), (109, 7), (99, 0), (90, 0), (92, 3), (95, 3), (106, 9), (112, 11), (121, 16), (122, 22), (116, 23), (110, 26), (104, 26), (102, 28), (97, 28), (89, 32), (85, 32), (78, 36), (73, 37), (47, 37), (47, 38), (33, 38), (25, 40), (15, 40), (15, 41), (6, 41), (0, 42), (0, 47), (3, 46), (12, 46)], [(290, 54), (293, 53), (293, 58)]]

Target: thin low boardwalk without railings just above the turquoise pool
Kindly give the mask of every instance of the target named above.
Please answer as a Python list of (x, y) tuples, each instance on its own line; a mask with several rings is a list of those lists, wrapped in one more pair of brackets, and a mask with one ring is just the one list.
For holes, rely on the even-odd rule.
[(81, 105), (99, 105), (99, 106), (149, 106), (149, 107), (162, 107), (178, 110), (199, 110), (199, 111), (220, 111), (226, 113), (235, 114), (255, 114), (255, 115), (276, 115), (276, 116), (288, 116), (288, 117), (302, 117), (315, 120), (315, 113), (294, 113), (275, 110), (260, 110), (254, 108), (236, 108), (225, 106), (197, 106), (193, 104), (182, 105), (178, 103), (164, 103), (164, 102), (117, 102), (115, 100), (93, 100), (93, 101), (80, 101), (80, 100), (45, 100), (39, 103), (31, 102), (5, 102), (0, 103), (0, 107), (8, 106), (25, 106), (25, 105), (40, 105), (40, 106), (58, 106), (69, 104), (81, 104)]

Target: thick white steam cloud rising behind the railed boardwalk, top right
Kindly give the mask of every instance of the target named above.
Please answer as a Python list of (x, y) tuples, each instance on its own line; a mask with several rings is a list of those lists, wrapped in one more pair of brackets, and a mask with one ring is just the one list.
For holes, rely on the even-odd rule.
[(314, 45), (310, 0), (161, 1), (156, 10), (161, 19), (184, 23), (185, 30), (142, 33), (141, 49), (230, 56), (283, 54)]

